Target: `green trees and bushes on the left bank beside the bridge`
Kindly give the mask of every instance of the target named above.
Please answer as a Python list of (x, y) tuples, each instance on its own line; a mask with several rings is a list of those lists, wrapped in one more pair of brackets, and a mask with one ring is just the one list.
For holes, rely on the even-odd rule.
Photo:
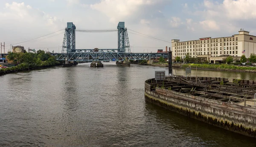
[(8, 73), (16, 73), (19, 71), (28, 71), (62, 65), (62, 63), (56, 61), (52, 55), (45, 53), (45, 51), (42, 50), (38, 50), (36, 53), (9, 52), (7, 59), (9, 59), (9, 61), (13, 61), (13, 64), (16, 66), (0, 68), (0, 76)]

